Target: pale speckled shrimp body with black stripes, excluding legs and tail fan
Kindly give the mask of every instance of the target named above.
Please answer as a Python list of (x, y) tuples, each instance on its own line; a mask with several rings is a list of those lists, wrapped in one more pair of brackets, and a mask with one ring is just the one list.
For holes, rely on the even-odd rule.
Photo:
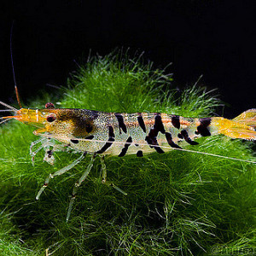
[(36, 112), (37, 120), (42, 116), (47, 119), (47, 115), (55, 117), (45, 128), (35, 131), (36, 135), (54, 138), (67, 147), (90, 154), (164, 153), (161, 147), (180, 148), (178, 143), (183, 140), (195, 145), (193, 139), (218, 133), (211, 125), (211, 118), (190, 119), (166, 113), (104, 113), (76, 108)]

